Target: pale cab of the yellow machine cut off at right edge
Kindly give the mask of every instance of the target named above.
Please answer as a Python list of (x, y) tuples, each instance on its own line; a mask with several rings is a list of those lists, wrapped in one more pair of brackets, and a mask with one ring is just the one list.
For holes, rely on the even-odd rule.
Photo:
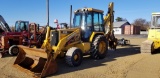
[(151, 27), (160, 28), (160, 13), (152, 13)]

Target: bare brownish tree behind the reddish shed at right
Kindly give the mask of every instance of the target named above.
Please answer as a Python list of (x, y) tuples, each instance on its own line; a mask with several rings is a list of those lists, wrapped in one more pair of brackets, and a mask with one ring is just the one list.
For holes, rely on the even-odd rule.
[(148, 30), (150, 26), (150, 22), (146, 21), (146, 19), (143, 18), (135, 19), (132, 24), (136, 26), (141, 26), (141, 30)]

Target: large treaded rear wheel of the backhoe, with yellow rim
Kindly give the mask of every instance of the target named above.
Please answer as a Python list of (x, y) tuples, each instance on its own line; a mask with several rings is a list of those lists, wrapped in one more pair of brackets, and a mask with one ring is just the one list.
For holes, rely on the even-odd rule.
[(91, 57), (95, 59), (103, 59), (106, 57), (108, 50), (107, 39), (103, 35), (98, 35), (92, 43)]

